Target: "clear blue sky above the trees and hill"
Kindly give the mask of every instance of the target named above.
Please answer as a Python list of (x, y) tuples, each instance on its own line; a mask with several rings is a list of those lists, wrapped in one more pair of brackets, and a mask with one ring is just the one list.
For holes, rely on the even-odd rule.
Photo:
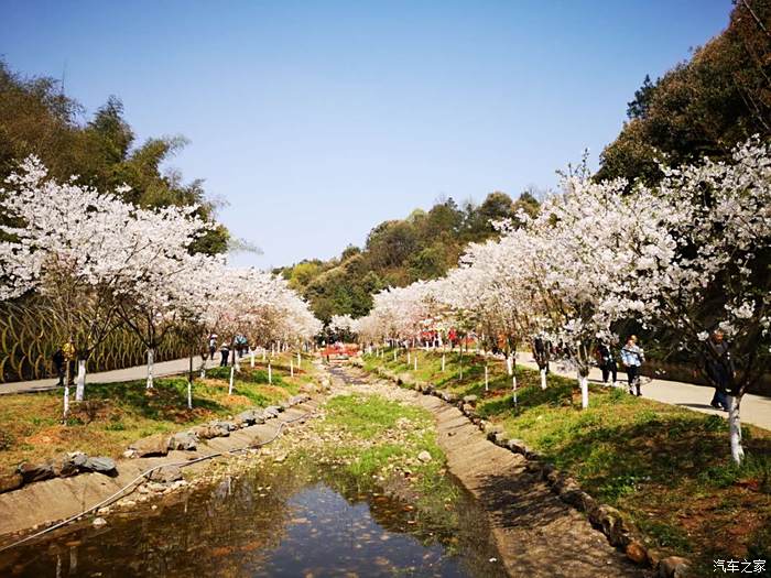
[(329, 258), (439, 197), (517, 196), (597, 155), (645, 74), (725, 29), (729, 0), (0, 0), (12, 69), (88, 113), (119, 96), (140, 139), (227, 199), (262, 248)]

